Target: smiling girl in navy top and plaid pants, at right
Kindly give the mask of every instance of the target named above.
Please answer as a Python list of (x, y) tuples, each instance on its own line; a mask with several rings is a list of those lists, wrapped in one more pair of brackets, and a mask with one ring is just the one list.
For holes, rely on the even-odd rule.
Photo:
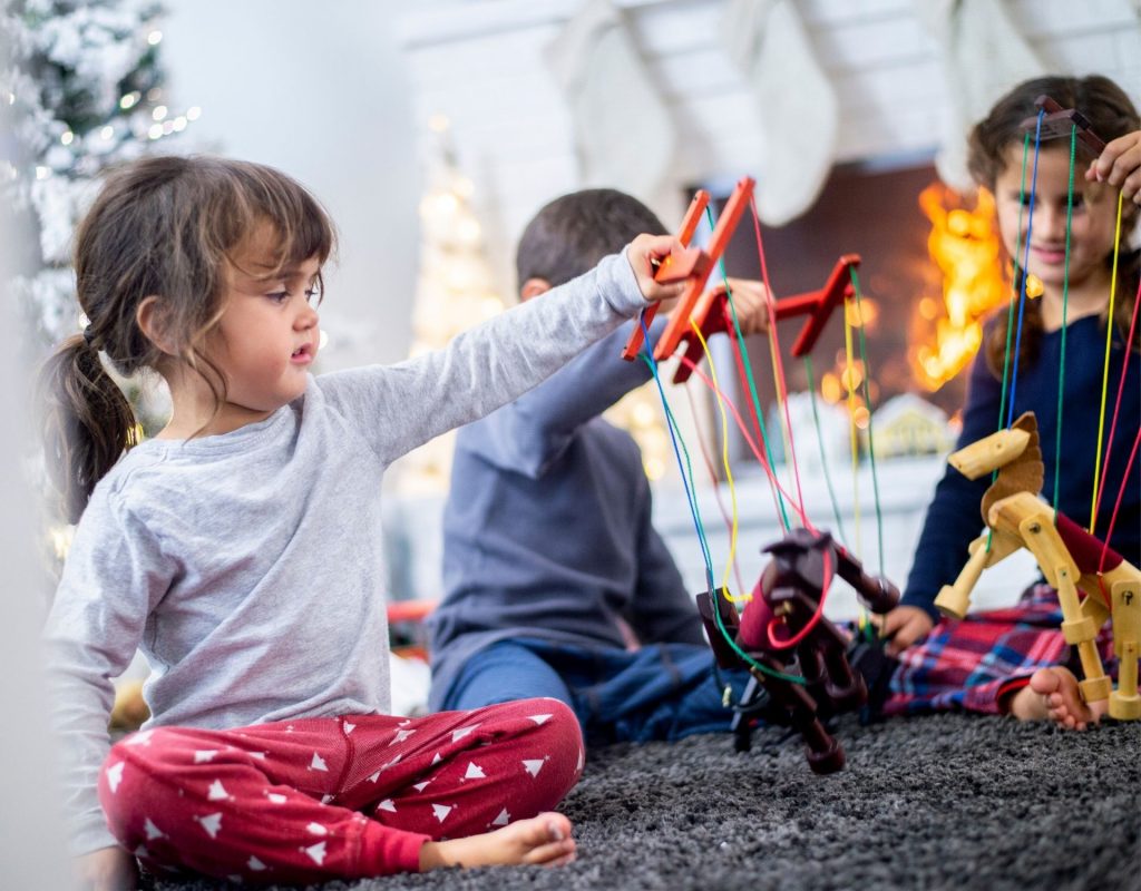
[[(1029, 161), (1027, 183), (1022, 185), (1021, 124), (1036, 116), (1034, 100), (1043, 94), (1063, 107), (1078, 110), (1108, 145), (1092, 162), (1079, 149), (1073, 212), (1068, 213), (1070, 140), (1042, 143), (1036, 159), (1031, 222)], [(1026, 411), (1036, 414), (1045, 462), (1042, 496), (1053, 503), (1057, 494), (1058, 509), (1083, 526), (1090, 523), (1107, 334), (1111, 342), (1107, 432), (1112, 395), (1125, 367), (1112, 452), (1102, 462), (1106, 495), (1094, 532), (1102, 538), (1108, 534), (1117, 491), (1124, 485), (1110, 544), (1134, 565), (1141, 565), (1141, 471), (1135, 457), (1133, 465), (1128, 459), (1141, 423), (1141, 363), (1136, 334), (1132, 343), (1126, 341), (1139, 282), (1139, 252), (1131, 249), (1130, 237), (1141, 204), (1139, 125), (1133, 103), (1106, 78), (1042, 78), (1015, 87), (998, 100), (972, 131), (969, 156), (976, 180), (995, 195), (998, 229), (1008, 254), (1019, 262), (1028, 257), (1028, 272), (1041, 280), (1043, 287), (1039, 299), (1026, 302), (1020, 338), (1010, 339), (1020, 346), (1017, 379), (1013, 386), (1008, 384), (1013, 392), (1010, 416)], [(1110, 317), (1119, 192), (1124, 197), (1123, 248), (1116, 258), (1116, 300)], [(986, 326), (982, 348), (971, 370), (960, 447), (1000, 426), (1008, 324), (1003, 310)], [(1065, 379), (1059, 418), (1063, 324)], [(1005, 416), (1002, 422), (1005, 424)], [(1059, 423), (1063, 426), (1060, 454)], [(1055, 493), (1054, 468), (1059, 462)], [(1074, 674), (1059, 665), (1066, 661), (1067, 645), (1059, 629), (1061, 613), (1052, 589), (1035, 584), (1012, 609), (974, 614), (963, 622), (939, 621), (934, 598), (942, 585), (954, 582), (966, 561), (968, 544), (982, 528), (980, 501), (988, 485), (987, 477), (972, 481), (948, 468), (936, 489), (904, 598), (884, 619), (883, 633), (890, 638), (888, 650), (901, 663), (885, 710), (1009, 711), (1021, 719), (1050, 716), (1063, 726), (1082, 728), (1094, 715), (1082, 703)]]

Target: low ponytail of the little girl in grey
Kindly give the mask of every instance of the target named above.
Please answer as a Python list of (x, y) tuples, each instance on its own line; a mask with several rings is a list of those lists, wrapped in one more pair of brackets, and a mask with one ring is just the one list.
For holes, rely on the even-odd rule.
[(91, 492), (123, 452), (138, 443), (138, 422), (87, 337), (64, 341), (39, 379), (48, 473), (68, 523), (78, 523)]

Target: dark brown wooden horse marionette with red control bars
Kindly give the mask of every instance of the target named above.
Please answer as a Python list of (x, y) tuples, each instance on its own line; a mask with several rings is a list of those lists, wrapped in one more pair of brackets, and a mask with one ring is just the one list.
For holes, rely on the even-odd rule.
[[(654, 358), (661, 362), (682, 348), (674, 383), (685, 382), (696, 368), (705, 338), (734, 330), (728, 289), (705, 291), (705, 284), (751, 202), (753, 180), (748, 177), (737, 184), (705, 249), (690, 246), (710, 200), (707, 193), (698, 192), (678, 236), (683, 250), (666, 258), (655, 274), (658, 282), (686, 285), (654, 349)], [(793, 346), (793, 356), (804, 357), (811, 351), (832, 311), (853, 294), (853, 270), (859, 262), (857, 254), (845, 254), (820, 290), (770, 303), (774, 323), (808, 316)], [(646, 322), (655, 309), (647, 310)], [(638, 357), (642, 342), (644, 330), (636, 329), (623, 358)], [(828, 586), (840, 575), (875, 613), (895, 607), (899, 591), (885, 580), (865, 575), (859, 561), (827, 533), (812, 529), (806, 517), (802, 520), (804, 527), (791, 529), (782, 541), (766, 549), (772, 561), (739, 616), (725, 589), (713, 590), (712, 576), (711, 590), (698, 594), (697, 600), (718, 664), (726, 669), (744, 667), (752, 675), (736, 706), (734, 729), (738, 751), (750, 747), (750, 719), (761, 716), (798, 730), (806, 742), (810, 768), (817, 773), (830, 773), (843, 767), (844, 752), (822, 720), (859, 708), (867, 702), (868, 691), (863, 675), (849, 662), (848, 635), (824, 618)]]

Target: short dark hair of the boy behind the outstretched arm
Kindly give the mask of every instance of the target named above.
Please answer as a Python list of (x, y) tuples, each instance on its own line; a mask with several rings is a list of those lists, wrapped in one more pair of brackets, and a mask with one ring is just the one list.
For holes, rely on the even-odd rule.
[(642, 233), (664, 235), (666, 229), (654, 211), (624, 192), (588, 188), (555, 199), (519, 238), (515, 259), (519, 286), (528, 278), (565, 284)]

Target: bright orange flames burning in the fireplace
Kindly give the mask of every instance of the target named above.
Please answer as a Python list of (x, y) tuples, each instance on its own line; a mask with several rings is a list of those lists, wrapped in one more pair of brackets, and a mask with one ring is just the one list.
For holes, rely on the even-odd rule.
[(1008, 297), (994, 196), (980, 188), (973, 208), (940, 183), (920, 194), (931, 220), (928, 250), (942, 273), (942, 303), (923, 297), (920, 327), (926, 342), (909, 350), (916, 379), (938, 390), (971, 361), (982, 342), (982, 318)]

